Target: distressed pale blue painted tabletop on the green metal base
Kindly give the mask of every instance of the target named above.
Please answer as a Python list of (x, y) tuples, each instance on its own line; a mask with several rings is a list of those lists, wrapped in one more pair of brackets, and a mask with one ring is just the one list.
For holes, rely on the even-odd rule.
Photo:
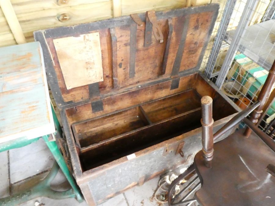
[(0, 49), (0, 143), (55, 132), (39, 42)]

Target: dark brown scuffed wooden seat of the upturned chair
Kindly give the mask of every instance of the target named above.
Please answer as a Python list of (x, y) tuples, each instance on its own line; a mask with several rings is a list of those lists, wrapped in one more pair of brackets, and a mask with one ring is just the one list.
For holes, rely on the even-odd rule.
[(214, 144), (212, 168), (204, 166), (203, 153), (194, 159), (202, 186), (195, 194), (200, 205), (275, 205), (275, 176), (266, 172), (275, 165), (275, 153), (254, 133), (244, 130)]

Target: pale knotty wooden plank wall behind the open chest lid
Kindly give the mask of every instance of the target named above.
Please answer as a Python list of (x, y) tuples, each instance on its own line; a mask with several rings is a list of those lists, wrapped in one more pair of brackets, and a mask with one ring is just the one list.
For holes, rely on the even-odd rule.
[[(9, 0), (6, 0), (9, 1)], [(213, 0), (10, 0), (27, 42), (33, 31), (74, 25), (148, 10), (204, 5)], [(214, 2), (215, 3), (215, 2)], [(0, 9), (0, 47), (16, 44)]]

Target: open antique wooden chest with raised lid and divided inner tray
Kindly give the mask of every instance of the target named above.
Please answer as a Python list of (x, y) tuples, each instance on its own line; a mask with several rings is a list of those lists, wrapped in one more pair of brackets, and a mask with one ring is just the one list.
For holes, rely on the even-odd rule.
[(190, 163), (201, 149), (202, 96), (213, 98), (214, 131), (239, 110), (199, 72), (218, 7), (35, 32), (90, 205)]

